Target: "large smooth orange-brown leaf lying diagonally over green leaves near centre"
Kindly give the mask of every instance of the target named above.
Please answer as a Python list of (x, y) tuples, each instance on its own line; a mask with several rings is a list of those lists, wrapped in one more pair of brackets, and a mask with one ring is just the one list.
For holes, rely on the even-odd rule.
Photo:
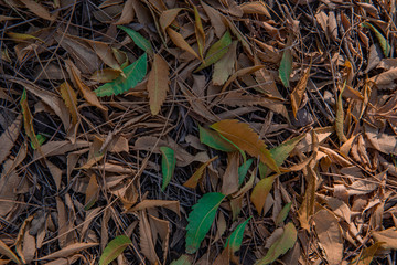
[(256, 134), (248, 124), (239, 123), (237, 119), (225, 119), (213, 124), (211, 128), (215, 129), (224, 138), (250, 156), (259, 157), (261, 162), (266, 163), (276, 172), (280, 172), (275, 159), (266, 148), (265, 142), (259, 139), (258, 134)]

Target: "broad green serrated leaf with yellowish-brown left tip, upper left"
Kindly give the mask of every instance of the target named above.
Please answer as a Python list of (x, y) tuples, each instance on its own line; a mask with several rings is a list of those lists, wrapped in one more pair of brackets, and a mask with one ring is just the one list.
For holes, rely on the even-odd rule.
[(115, 81), (106, 83), (94, 91), (97, 96), (119, 95), (130, 88), (133, 88), (139, 82), (143, 80), (147, 74), (147, 54), (144, 53), (131, 65), (122, 70), (127, 78), (119, 75)]

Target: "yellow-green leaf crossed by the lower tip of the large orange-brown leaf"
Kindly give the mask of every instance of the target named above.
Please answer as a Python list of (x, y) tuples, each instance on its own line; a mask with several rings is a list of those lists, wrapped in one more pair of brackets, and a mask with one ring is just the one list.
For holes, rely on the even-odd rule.
[[(297, 136), (269, 150), (278, 167), (280, 167), (286, 161), (293, 148), (299, 144), (301, 139), (303, 139), (303, 137), (304, 135)], [(260, 163), (259, 172), (260, 178), (262, 179), (270, 173), (270, 169), (265, 163)]]

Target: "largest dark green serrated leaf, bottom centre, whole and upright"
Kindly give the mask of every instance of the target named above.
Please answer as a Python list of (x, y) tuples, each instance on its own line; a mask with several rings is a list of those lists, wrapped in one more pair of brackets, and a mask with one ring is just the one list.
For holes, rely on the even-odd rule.
[(224, 198), (225, 195), (218, 192), (206, 193), (193, 205), (187, 218), (186, 253), (193, 254), (200, 248), (200, 244), (210, 231)]

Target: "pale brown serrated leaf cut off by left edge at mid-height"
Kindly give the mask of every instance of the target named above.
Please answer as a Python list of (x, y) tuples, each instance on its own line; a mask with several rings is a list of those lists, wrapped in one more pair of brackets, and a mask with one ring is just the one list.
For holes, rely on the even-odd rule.
[(6, 160), (10, 153), (19, 132), (22, 127), (22, 115), (18, 115), (15, 120), (4, 130), (0, 136), (0, 165)]

